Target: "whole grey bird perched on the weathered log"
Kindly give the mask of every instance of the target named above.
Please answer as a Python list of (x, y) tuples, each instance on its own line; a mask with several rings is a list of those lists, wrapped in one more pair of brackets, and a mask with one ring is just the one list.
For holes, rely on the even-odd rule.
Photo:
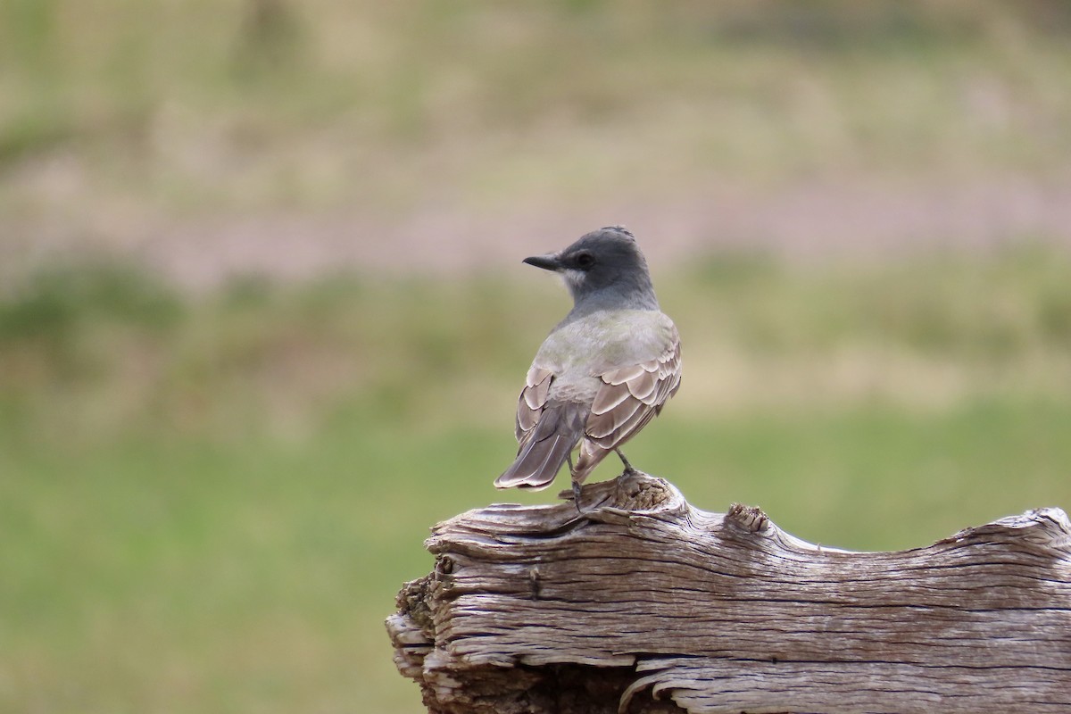
[(495, 486), (546, 488), (569, 461), (579, 507), (580, 484), (612, 451), (634, 471), (620, 446), (680, 388), (680, 336), (659, 308), (635, 237), (620, 226), (525, 262), (560, 273), (573, 309), (536, 353), (517, 401), (517, 458)]

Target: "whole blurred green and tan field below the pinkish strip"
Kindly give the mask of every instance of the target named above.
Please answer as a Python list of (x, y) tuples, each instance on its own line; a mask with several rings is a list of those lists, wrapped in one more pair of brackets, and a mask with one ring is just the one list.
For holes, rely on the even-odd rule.
[[(685, 378), (630, 457), (850, 548), (1067, 507), (1069, 270), (1022, 249), (657, 272)], [(381, 621), (432, 523), (518, 498), (491, 482), (567, 307), (546, 278), (194, 300), (100, 265), (10, 291), (0, 710), (418, 711)]]

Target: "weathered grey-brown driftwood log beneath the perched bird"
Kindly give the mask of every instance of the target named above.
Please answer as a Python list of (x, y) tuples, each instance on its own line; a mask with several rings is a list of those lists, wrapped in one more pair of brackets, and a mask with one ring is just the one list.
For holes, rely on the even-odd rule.
[(646, 474), (439, 523), (387, 627), (433, 714), (1071, 712), (1058, 508), (848, 552)]

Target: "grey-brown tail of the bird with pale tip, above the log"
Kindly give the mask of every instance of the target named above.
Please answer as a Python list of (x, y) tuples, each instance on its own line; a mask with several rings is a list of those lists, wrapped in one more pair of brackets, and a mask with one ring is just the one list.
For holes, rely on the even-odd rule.
[(550, 401), (528, 438), (521, 442), (517, 458), (495, 480), (497, 488), (546, 488), (558, 475), (573, 446), (584, 436), (589, 408), (572, 401)]

